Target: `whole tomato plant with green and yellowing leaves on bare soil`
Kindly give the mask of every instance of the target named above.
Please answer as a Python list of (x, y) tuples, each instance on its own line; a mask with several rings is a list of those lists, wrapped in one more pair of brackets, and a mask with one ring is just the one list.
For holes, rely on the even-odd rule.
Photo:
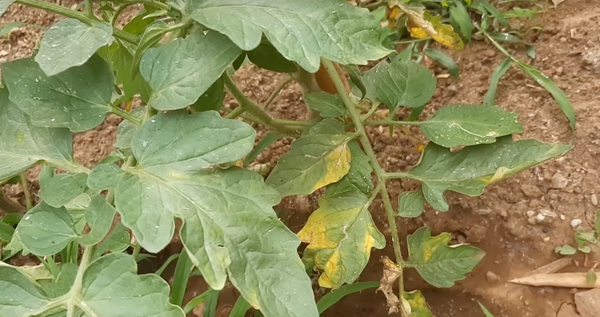
[[(401, 107), (428, 103), (436, 78), (410, 58), (390, 55), (379, 20), (344, 1), (115, 0), (100, 2), (96, 15), (91, 0), (83, 12), (1, 0), (0, 13), (13, 2), (66, 19), (45, 32), (33, 58), (2, 65), (0, 181), (20, 175), (27, 188), (24, 172), (43, 167), (39, 202), (26, 191), (22, 219), (8, 214), (0, 222), (3, 261), (21, 252), (41, 262), (0, 262), (0, 316), (171, 317), (202, 302), (210, 316), (228, 282), (241, 293), (231, 316), (250, 307), (266, 317), (318, 316), (346, 294), (377, 285), (390, 312), (430, 316), (421, 293), (405, 291), (404, 269), (451, 287), (484, 253), (421, 228), (407, 237), (404, 258), (396, 217), (417, 217), (425, 203), (447, 211), (446, 191), (480, 195), (571, 148), (514, 141), (522, 133), (517, 115), (494, 105), (449, 105), (425, 121), (397, 120)], [(139, 14), (115, 27), (133, 4), (142, 5)], [(409, 11), (414, 34), (450, 46), (449, 39), (460, 39), (451, 26)], [(357, 67), (376, 60), (368, 71)], [(288, 74), (265, 104), (232, 80), (245, 61)], [(265, 110), (292, 80), (318, 114), (311, 120), (282, 120)], [(237, 108), (223, 107), (226, 90)], [(134, 100), (141, 106), (132, 109)], [(380, 108), (394, 115), (382, 119)], [(73, 158), (73, 133), (97, 127), (109, 113), (124, 119), (117, 150), (88, 169)], [(259, 125), (272, 132), (255, 144)], [(419, 126), (430, 142), (411, 170), (385, 171), (367, 127), (406, 125)], [(295, 138), (291, 150), (257, 173), (254, 159), (283, 136)], [(457, 147), (464, 148), (451, 150)], [(402, 178), (422, 189), (402, 193), (395, 209), (387, 181)], [(294, 234), (273, 206), (322, 188), (319, 208)], [(382, 260), (380, 284), (353, 284), (371, 250), (386, 246), (369, 212), (378, 197), (395, 258)], [(141, 249), (164, 249), (176, 219), (182, 252), (156, 274), (138, 275)], [(169, 286), (160, 273), (172, 261)], [(183, 303), (193, 272), (211, 289)], [(334, 290), (318, 304), (307, 272)], [(392, 290), (396, 280), (399, 294)]]

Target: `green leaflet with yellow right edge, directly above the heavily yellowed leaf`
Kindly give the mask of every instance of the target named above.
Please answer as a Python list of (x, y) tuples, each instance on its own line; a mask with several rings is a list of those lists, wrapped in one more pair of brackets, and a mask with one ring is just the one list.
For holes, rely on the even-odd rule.
[[(340, 126), (333, 119), (321, 126)], [(350, 170), (350, 137), (321, 131), (301, 136), (277, 162), (267, 184), (282, 196), (307, 195), (342, 179)]]

